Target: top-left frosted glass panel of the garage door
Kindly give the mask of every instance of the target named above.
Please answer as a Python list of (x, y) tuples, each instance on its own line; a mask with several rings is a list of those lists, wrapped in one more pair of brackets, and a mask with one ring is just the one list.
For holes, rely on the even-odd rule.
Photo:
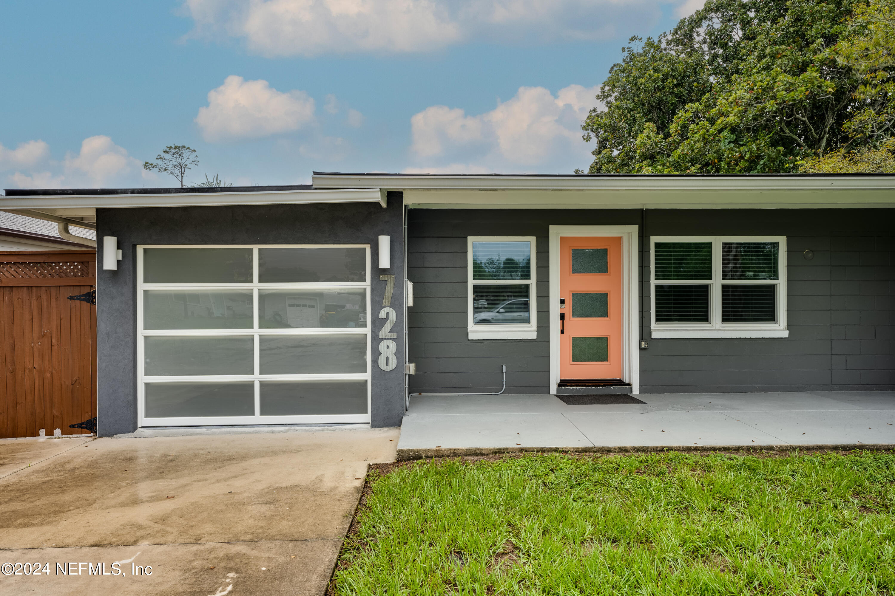
[(143, 249), (144, 284), (251, 283), (251, 249)]

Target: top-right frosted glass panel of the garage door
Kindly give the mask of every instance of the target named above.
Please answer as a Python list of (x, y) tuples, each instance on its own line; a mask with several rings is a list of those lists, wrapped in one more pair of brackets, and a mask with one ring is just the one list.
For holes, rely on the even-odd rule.
[(367, 281), (365, 248), (262, 248), (258, 281), (270, 283), (342, 283)]

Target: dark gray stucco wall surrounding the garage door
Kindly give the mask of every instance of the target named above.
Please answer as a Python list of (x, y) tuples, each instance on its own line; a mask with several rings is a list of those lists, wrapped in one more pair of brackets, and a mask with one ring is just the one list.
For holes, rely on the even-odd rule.
[[(402, 278), (404, 268), (401, 193), (388, 193), (388, 207), (379, 203), (286, 206), (97, 209), (98, 237), (117, 236), (123, 258), (117, 271), (97, 272), (98, 435), (137, 428), (136, 249), (138, 244), (338, 244), (371, 245), (371, 328), (373, 330), (372, 425), (398, 426), (404, 415), (405, 362), (398, 341), (398, 366), (388, 372), (376, 365), (384, 321), (378, 319), (386, 282), (382, 273)], [(379, 269), (377, 237), (391, 236), (391, 268)], [(99, 243), (98, 263), (102, 263)], [(392, 307), (398, 313), (392, 328), (404, 334), (404, 285), (396, 283)], [(379, 306), (379, 308), (377, 308)]]

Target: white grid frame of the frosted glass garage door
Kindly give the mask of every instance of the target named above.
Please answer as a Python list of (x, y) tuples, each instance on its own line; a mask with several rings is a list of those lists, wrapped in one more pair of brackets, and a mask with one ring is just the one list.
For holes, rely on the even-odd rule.
[[(144, 284), (143, 283), (143, 249), (215, 249), (215, 248), (251, 248), (252, 280), (251, 283), (238, 284)], [(261, 284), (258, 282), (258, 250), (262, 248), (362, 248), (366, 250), (366, 282), (343, 283), (303, 283)], [(137, 402), (138, 425), (152, 426), (219, 426), (240, 424), (320, 424), (320, 423), (369, 423), (371, 421), (371, 322), (370, 317), (370, 244), (141, 244), (137, 246)], [(253, 323), (247, 329), (144, 329), (143, 328), (143, 290), (249, 290), (251, 291)], [(260, 290), (322, 290), (322, 289), (364, 289), (367, 295), (367, 327), (366, 328), (259, 328), (259, 291)], [(294, 335), (355, 335), (364, 336), (367, 345), (367, 371), (365, 373), (336, 374), (299, 374), (299, 375), (261, 375), (259, 362), (260, 336), (294, 336)], [(195, 375), (149, 377), (144, 374), (145, 359), (143, 354), (144, 337), (148, 336), (252, 336), (255, 344), (254, 374), (251, 375)], [(366, 380), (367, 381), (367, 413), (364, 414), (324, 414), (324, 415), (292, 415), (261, 416), (260, 415), (260, 382), (277, 380)], [(181, 418), (148, 418), (146, 417), (146, 383), (174, 382), (221, 382), (221, 381), (253, 381), (255, 385), (255, 413), (253, 416), (199, 416)]]

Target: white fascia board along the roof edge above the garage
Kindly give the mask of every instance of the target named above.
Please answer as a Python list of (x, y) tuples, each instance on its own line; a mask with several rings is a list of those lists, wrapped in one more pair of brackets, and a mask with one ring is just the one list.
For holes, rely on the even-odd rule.
[(0, 209), (115, 209), (369, 202), (378, 202), (382, 207), (385, 207), (386, 191), (380, 188), (358, 188), (311, 189), (306, 191), (38, 195), (33, 197), (0, 197)]

